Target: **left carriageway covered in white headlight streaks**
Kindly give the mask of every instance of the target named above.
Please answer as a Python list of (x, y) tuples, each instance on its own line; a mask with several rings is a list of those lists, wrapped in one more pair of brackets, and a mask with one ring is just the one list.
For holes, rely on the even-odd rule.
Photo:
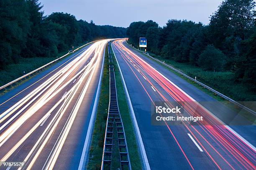
[(0, 163), (28, 170), (84, 166), (107, 42), (83, 47), (0, 97)]

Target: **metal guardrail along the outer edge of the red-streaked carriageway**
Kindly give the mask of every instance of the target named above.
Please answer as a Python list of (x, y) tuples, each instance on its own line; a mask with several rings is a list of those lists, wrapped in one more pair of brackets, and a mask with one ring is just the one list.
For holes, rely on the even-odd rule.
[[(129, 46), (130, 46), (130, 47), (133, 47), (133, 46), (131, 46), (131, 45), (129, 45)], [(135, 48), (135, 47), (133, 47), (133, 48), (136, 49), (136, 50), (138, 50), (138, 49)], [(143, 51), (141, 51), (141, 50), (138, 50), (138, 51), (139, 51), (139, 52), (143, 52)], [(218, 91), (212, 89), (211, 87), (209, 87), (209, 86), (203, 84), (202, 82), (197, 81), (197, 80), (195, 80), (195, 79), (192, 78), (192, 77), (189, 77), (188, 75), (186, 75), (186, 74), (184, 74), (183, 72), (177, 70), (176, 68), (174, 68), (174, 67), (172, 67), (172, 66), (170, 66), (170, 65), (168, 65), (168, 64), (166, 64), (166, 63), (164, 63), (164, 62), (162, 62), (161, 60), (158, 60), (158, 59), (152, 57), (151, 55), (148, 54), (148, 52), (143, 52), (143, 53), (144, 53), (145, 55), (147, 55), (148, 57), (150, 57), (151, 59), (153, 59), (153, 60), (155, 60), (155, 61), (157, 61), (157, 62), (160, 62), (161, 64), (165, 65), (166, 67), (169, 67), (169, 68), (171, 68), (172, 70), (174, 70), (175, 72), (178, 72), (179, 74), (181, 74), (181, 75), (183, 75), (184, 77), (188, 78), (189, 80), (192, 80), (192, 81), (196, 82), (197, 84), (202, 85), (203, 87), (205, 87), (205, 88), (207, 88), (208, 90), (214, 92), (215, 94), (219, 95), (220, 97), (223, 97), (224, 99), (226, 99), (226, 100), (232, 102), (233, 104), (237, 105), (238, 107), (241, 107), (242, 109), (244, 109), (244, 110), (246, 110), (246, 111), (248, 111), (248, 112), (250, 112), (251, 114), (253, 114), (253, 115), (256, 116), (256, 112), (253, 111), (253, 110), (251, 110), (250, 108), (248, 108), (248, 107), (246, 107), (246, 106), (240, 104), (239, 102), (237, 102), (237, 101), (235, 101), (235, 100), (229, 98), (229, 97), (226, 96), (226, 95), (223, 95), (222, 93), (220, 93), (220, 92), (218, 92)]]

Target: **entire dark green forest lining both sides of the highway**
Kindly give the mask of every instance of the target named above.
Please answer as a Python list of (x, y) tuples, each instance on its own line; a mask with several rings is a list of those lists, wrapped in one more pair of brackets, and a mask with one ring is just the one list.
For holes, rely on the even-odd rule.
[(54, 60), (72, 46), (127, 35), (134, 46), (139, 37), (146, 37), (149, 52), (186, 65), (182, 66), (183, 71), (190, 69), (186, 74), (229, 97), (255, 101), (255, 5), (253, 0), (224, 0), (208, 25), (168, 20), (159, 27), (148, 20), (121, 28), (77, 20), (68, 13), (44, 16), (38, 0), (0, 0), (0, 75), (5, 75), (0, 84)]

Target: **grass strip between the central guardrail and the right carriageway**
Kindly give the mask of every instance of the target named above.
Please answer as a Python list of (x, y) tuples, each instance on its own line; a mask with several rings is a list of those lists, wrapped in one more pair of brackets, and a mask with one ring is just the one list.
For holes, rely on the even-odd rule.
[(131, 120), (131, 115), (128, 108), (128, 102), (126, 100), (125, 91), (123, 88), (123, 83), (121, 80), (120, 72), (118, 70), (118, 65), (113, 55), (113, 50), (110, 45), (111, 55), (113, 59), (113, 65), (115, 69), (115, 84), (118, 96), (118, 107), (120, 115), (123, 121), (123, 126), (125, 130), (125, 138), (128, 146), (129, 158), (131, 162), (132, 170), (141, 170), (141, 159), (138, 153), (138, 145), (136, 142), (133, 122)]

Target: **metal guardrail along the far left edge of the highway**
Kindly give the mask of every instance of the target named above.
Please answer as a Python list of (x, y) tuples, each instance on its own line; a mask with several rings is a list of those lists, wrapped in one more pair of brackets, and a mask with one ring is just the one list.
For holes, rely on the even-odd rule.
[[(96, 42), (96, 41), (100, 41), (100, 40), (95, 40), (95, 41), (92, 41), (92, 42)], [(81, 47), (84, 47), (85, 45), (88, 45), (88, 44), (90, 44), (90, 43), (92, 43), (92, 42), (89, 42), (89, 43), (87, 43), (87, 44), (84, 44), (84, 45), (82, 45)], [(79, 50), (79, 48), (81, 48), (81, 47), (76, 48), (73, 52)], [(38, 70), (41, 70), (42, 68), (44, 68), (44, 67), (46, 67), (46, 66), (48, 66), (48, 65), (50, 65), (50, 64), (52, 64), (52, 63), (54, 63), (54, 62), (56, 62), (56, 61), (58, 61), (59, 59), (61, 59), (61, 58), (63, 58), (63, 57), (66, 57), (66, 56), (69, 55), (69, 54), (70, 54), (70, 52), (67, 53), (67, 54), (65, 54), (65, 55), (63, 55), (63, 56), (61, 56), (61, 57), (59, 57), (59, 58), (57, 58), (56, 60), (53, 60), (53, 61), (47, 63), (46, 65), (43, 65), (43, 66), (37, 68), (36, 70), (33, 70), (33, 71), (27, 73), (26, 75), (23, 75), (23, 76), (21, 76), (21, 77), (18, 77), (17, 79), (15, 79), (15, 80), (13, 80), (13, 81), (11, 81), (11, 82), (8, 82), (7, 84), (1, 86), (1, 87), (0, 87), (0, 90), (2, 90), (2, 89), (5, 88), (5, 87), (8, 87), (9, 85), (12, 85), (13, 83), (15, 83), (15, 82), (17, 82), (17, 81), (19, 81), (19, 80), (21, 80), (21, 79), (23, 79), (23, 78), (25, 78), (25, 77), (27, 77), (28, 75), (33, 74), (34, 72), (37, 72)]]

